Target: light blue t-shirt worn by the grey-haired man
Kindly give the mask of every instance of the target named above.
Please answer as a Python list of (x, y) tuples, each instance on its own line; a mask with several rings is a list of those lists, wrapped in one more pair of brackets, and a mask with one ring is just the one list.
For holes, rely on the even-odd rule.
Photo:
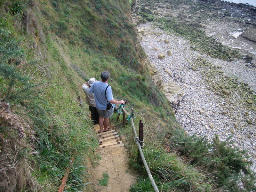
[(108, 101), (114, 99), (111, 86), (108, 86), (106, 93), (108, 100), (106, 99), (105, 90), (107, 86), (107, 83), (103, 83), (102, 81), (95, 81), (90, 87), (89, 93), (94, 93), (96, 108), (99, 110), (106, 110)]

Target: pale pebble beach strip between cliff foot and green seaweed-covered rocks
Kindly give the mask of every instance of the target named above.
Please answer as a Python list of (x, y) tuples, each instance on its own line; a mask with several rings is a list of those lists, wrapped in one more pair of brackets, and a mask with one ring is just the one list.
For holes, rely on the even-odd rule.
[[(248, 104), (247, 96), (250, 94), (245, 94), (242, 86), (245, 83), (256, 90), (255, 69), (246, 67), (242, 60), (228, 62), (193, 51), (187, 40), (156, 28), (153, 22), (140, 24), (137, 28), (144, 32), (140, 44), (150, 62), (156, 65), (163, 83), (172, 80), (185, 91), (175, 108), (176, 118), (183, 129), (188, 134), (206, 135), (208, 139), (212, 139), (214, 134), (218, 134), (221, 140), (232, 135), (232, 147), (247, 150), (253, 161), (252, 170), (256, 171), (255, 103)], [(171, 56), (167, 51), (171, 51)], [(164, 59), (158, 58), (160, 53), (164, 53)], [(207, 65), (198, 65), (202, 62)], [(213, 69), (214, 76), (208, 78)], [(228, 78), (235, 83), (230, 85)], [(221, 90), (216, 91), (218, 82), (223, 84), (223, 89), (226, 86), (236, 89), (223, 94)]]

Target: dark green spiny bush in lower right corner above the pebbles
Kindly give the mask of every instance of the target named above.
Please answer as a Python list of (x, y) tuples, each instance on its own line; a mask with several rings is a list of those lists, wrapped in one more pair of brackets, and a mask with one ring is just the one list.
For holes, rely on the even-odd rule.
[[(244, 177), (243, 175), (252, 176), (249, 169), (252, 162), (245, 160), (244, 157), (246, 151), (238, 151), (236, 148), (229, 147), (232, 143), (229, 141), (230, 137), (226, 141), (220, 141), (218, 135), (215, 135), (213, 140), (209, 141), (205, 136), (189, 136), (179, 130), (171, 130), (168, 135), (169, 147), (186, 156), (191, 164), (204, 167), (212, 174), (211, 177), (215, 178), (214, 183), (218, 187), (239, 191), (237, 183)], [(255, 188), (250, 182), (244, 187), (248, 191)]]

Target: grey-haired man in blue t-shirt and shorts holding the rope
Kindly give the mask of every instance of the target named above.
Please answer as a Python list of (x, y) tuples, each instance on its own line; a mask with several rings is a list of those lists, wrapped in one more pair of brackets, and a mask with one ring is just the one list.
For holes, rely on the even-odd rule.
[(94, 93), (96, 108), (100, 115), (100, 132), (102, 133), (103, 124), (104, 132), (109, 130), (109, 117), (112, 116), (114, 111), (114, 107), (111, 107), (109, 110), (107, 110), (108, 102), (113, 104), (124, 104), (124, 100), (114, 100), (111, 86), (108, 85), (108, 79), (110, 77), (110, 73), (108, 71), (103, 71), (100, 77), (101, 81), (95, 81), (92, 84), (89, 93)]

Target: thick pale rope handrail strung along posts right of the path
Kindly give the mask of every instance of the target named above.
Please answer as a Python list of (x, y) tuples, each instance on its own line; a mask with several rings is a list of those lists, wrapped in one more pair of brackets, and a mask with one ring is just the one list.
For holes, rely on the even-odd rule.
[[(131, 113), (131, 114), (129, 114), (127, 111), (125, 111), (125, 109), (124, 109), (123, 106), (122, 106), (122, 109), (123, 109), (124, 113), (125, 113), (126, 115), (128, 115), (128, 116), (134, 114), (133, 108), (132, 108), (132, 113)], [(132, 124), (132, 131), (133, 131), (133, 134), (134, 134), (135, 138), (138, 138), (137, 132), (136, 132), (136, 129), (135, 129), (135, 126), (134, 126), (133, 118), (131, 118), (131, 124)], [(149, 177), (149, 179), (150, 179), (150, 181), (151, 181), (151, 183), (152, 183), (152, 186), (153, 186), (153, 188), (155, 189), (156, 192), (159, 192), (159, 190), (158, 190), (158, 188), (157, 188), (157, 186), (156, 186), (155, 180), (153, 179), (153, 177), (152, 177), (152, 175), (151, 175), (151, 172), (150, 172), (150, 170), (149, 170), (149, 168), (148, 168), (148, 164), (147, 164), (147, 162), (146, 162), (145, 156), (144, 156), (143, 151), (142, 151), (142, 149), (141, 149), (140, 142), (139, 142), (138, 140), (135, 140), (135, 142), (136, 142), (136, 144), (138, 145), (138, 148), (139, 148), (139, 151), (140, 151), (141, 159), (142, 159), (143, 164), (144, 164), (144, 166), (145, 166), (145, 169), (146, 169), (146, 171), (147, 171), (147, 173), (148, 173), (148, 177)]]

